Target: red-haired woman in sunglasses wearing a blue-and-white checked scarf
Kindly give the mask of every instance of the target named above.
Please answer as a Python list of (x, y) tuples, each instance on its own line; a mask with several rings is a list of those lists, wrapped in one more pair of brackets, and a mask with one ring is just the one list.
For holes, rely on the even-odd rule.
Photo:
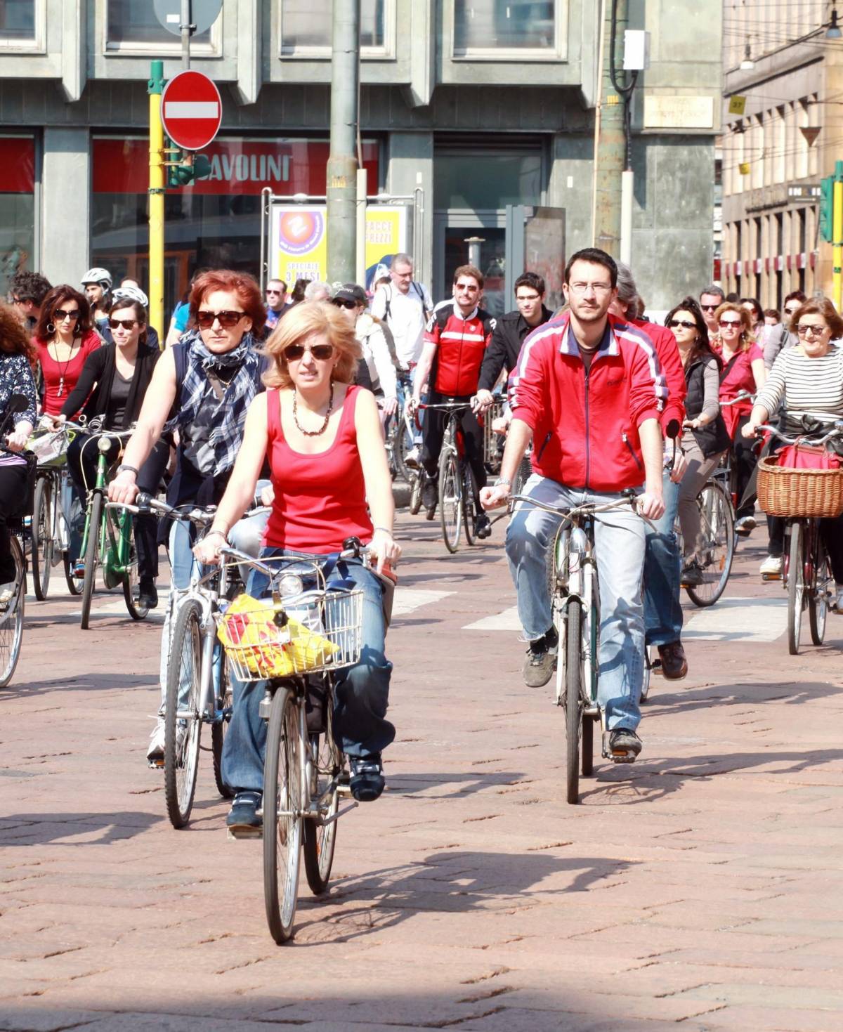
[[(172, 506), (216, 505), (223, 496), (244, 440), (246, 413), (263, 390), (262, 361), (253, 328), (266, 322), (260, 288), (245, 273), (215, 269), (197, 277), (190, 293), (190, 318), (196, 329), (167, 349), (158, 362), (151, 389), (126, 446), (119, 475), (108, 487), (112, 502), (137, 496), (138, 470), (165, 431), (177, 432), (175, 473), (167, 491)], [(170, 413), (173, 413), (170, 416)], [(190, 583), (190, 531), (174, 523), (169, 537), (172, 584)], [(163, 757), (163, 692), (169, 626), (164, 625), (161, 655), (162, 709), (147, 753), (151, 764)]]

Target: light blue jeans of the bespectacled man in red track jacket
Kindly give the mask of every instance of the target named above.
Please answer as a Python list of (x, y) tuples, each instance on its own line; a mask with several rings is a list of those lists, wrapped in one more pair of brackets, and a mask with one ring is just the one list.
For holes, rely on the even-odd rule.
[[(523, 494), (549, 505), (574, 508), (586, 502), (606, 505), (619, 497), (565, 487), (532, 474)], [(551, 625), (547, 550), (561, 518), (518, 504), (507, 528), (507, 558), (518, 593), (518, 616), (529, 641)], [(635, 730), (641, 720), (639, 699), (644, 678), (644, 607), (641, 599), (646, 524), (631, 508), (601, 513), (594, 521), (594, 548), (599, 582), (601, 626), (597, 702), (606, 725)]]

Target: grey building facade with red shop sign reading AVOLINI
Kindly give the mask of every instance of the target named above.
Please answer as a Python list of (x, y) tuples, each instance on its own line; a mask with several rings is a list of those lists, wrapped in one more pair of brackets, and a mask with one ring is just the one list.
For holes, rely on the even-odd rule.
[[(568, 254), (592, 244), (608, 3), (362, 0), (368, 192), (421, 188), (413, 250), (435, 296), (474, 247), (498, 284), (490, 303), (512, 307), (499, 286), (512, 205), (561, 211)], [(191, 65), (220, 87), (223, 125), (209, 175), (167, 192), (168, 309), (196, 265), (258, 272), (264, 187), (324, 194), (331, 6), (224, 0), (194, 36)], [(667, 309), (711, 276), (720, 2), (629, 0), (629, 26), (651, 36), (631, 107), (634, 266)], [(0, 4), (0, 289), (23, 266), (77, 283), (104, 265), (145, 284), (150, 62), (169, 77), (180, 49), (151, 0)]]

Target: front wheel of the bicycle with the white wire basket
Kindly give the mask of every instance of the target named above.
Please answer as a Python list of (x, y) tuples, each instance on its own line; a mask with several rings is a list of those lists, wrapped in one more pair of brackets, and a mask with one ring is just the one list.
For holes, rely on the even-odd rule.
[(263, 768), (263, 899), (269, 934), (281, 945), (292, 936), (301, 858), (304, 755), (299, 704), (292, 691), (272, 697)]

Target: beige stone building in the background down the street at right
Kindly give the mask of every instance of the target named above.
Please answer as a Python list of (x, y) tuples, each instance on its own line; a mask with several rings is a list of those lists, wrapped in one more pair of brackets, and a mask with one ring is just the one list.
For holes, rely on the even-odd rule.
[(818, 217), (819, 182), (843, 156), (833, 7), (723, 3), (721, 282), (764, 308), (780, 309), (791, 290), (832, 294)]

